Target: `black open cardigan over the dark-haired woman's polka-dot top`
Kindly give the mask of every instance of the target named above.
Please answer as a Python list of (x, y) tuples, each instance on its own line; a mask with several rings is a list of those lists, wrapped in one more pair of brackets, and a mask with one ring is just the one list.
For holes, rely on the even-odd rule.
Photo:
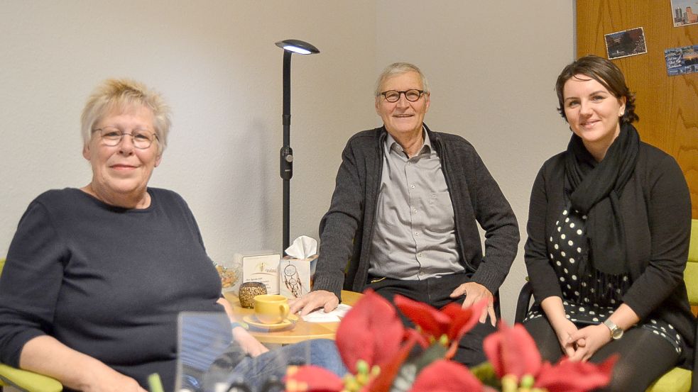
[[(545, 239), (565, 208), (565, 154), (543, 164), (530, 196), (525, 262), (538, 303), (550, 296), (562, 298), (560, 281), (548, 257), (552, 243)], [(640, 320), (652, 315), (674, 325), (687, 344), (690, 360), (696, 331), (683, 271), (690, 241), (691, 200), (675, 159), (641, 142), (635, 172), (623, 189), (620, 205), (633, 281), (623, 303)]]

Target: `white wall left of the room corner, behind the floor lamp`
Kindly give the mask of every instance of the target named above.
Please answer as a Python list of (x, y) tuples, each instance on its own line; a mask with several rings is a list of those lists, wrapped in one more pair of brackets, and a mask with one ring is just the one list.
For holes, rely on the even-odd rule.
[(40, 192), (89, 182), (80, 111), (107, 77), (163, 92), (173, 129), (151, 186), (178, 191), (217, 262), (281, 247), (283, 50), (292, 61), (291, 236), (317, 237), (339, 152), (373, 121), (371, 1), (20, 1), (0, 3), (0, 257)]

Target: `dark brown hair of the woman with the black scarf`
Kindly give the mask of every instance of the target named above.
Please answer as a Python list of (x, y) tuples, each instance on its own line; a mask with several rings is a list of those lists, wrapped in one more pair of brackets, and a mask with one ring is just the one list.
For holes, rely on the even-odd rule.
[(570, 78), (578, 74), (586, 75), (603, 84), (611, 94), (616, 96), (616, 99), (626, 97), (626, 112), (623, 113), (621, 123), (632, 123), (640, 120), (640, 117), (635, 113), (635, 94), (631, 93), (626, 86), (626, 78), (623, 77), (621, 69), (604, 57), (588, 55), (567, 65), (557, 77), (555, 91), (557, 92), (557, 101), (560, 103), (557, 111), (560, 112), (562, 118), (565, 118), (565, 121), (567, 121), (567, 116), (565, 116), (565, 97), (562, 96), (562, 89)]

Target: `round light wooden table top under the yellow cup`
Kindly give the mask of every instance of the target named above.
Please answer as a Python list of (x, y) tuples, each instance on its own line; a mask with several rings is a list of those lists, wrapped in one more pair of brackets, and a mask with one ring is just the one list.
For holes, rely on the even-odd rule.
[[(247, 309), (240, 306), (240, 300), (234, 293), (227, 292), (224, 293), (224, 296), (233, 307), (233, 312), (238, 320), (242, 320), (242, 318), (244, 318), (246, 315), (254, 314), (253, 309)], [(342, 291), (342, 303), (354, 306), (354, 303), (359, 301), (359, 298), (361, 298), (361, 293), (355, 293), (354, 291)], [(251, 327), (249, 332), (253, 337), (256, 337), (256, 339), (262, 343), (290, 345), (291, 343), (302, 342), (310, 339), (334, 339), (334, 334), (337, 332), (337, 327), (339, 327), (339, 322), (308, 323), (307, 321), (302, 320), (302, 318), (299, 316), (298, 322), (296, 322), (293, 327), (275, 331), (257, 330)]]

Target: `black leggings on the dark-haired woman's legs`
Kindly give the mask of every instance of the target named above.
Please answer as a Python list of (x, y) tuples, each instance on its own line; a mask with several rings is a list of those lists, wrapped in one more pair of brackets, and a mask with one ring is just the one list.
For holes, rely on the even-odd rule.
[[(555, 364), (562, 357), (562, 347), (547, 318), (528, 320), (524, 327), (535, 340), (543, 360)], [(641, 327), (631, 328), (619, 340), (611, 340), (589, 359), (599, 363), (620, 354), (611, 376), (611, 383), (598, 391), (643, 392), (662, 374), (679, 362), (680, 354), (670, 342)]]

